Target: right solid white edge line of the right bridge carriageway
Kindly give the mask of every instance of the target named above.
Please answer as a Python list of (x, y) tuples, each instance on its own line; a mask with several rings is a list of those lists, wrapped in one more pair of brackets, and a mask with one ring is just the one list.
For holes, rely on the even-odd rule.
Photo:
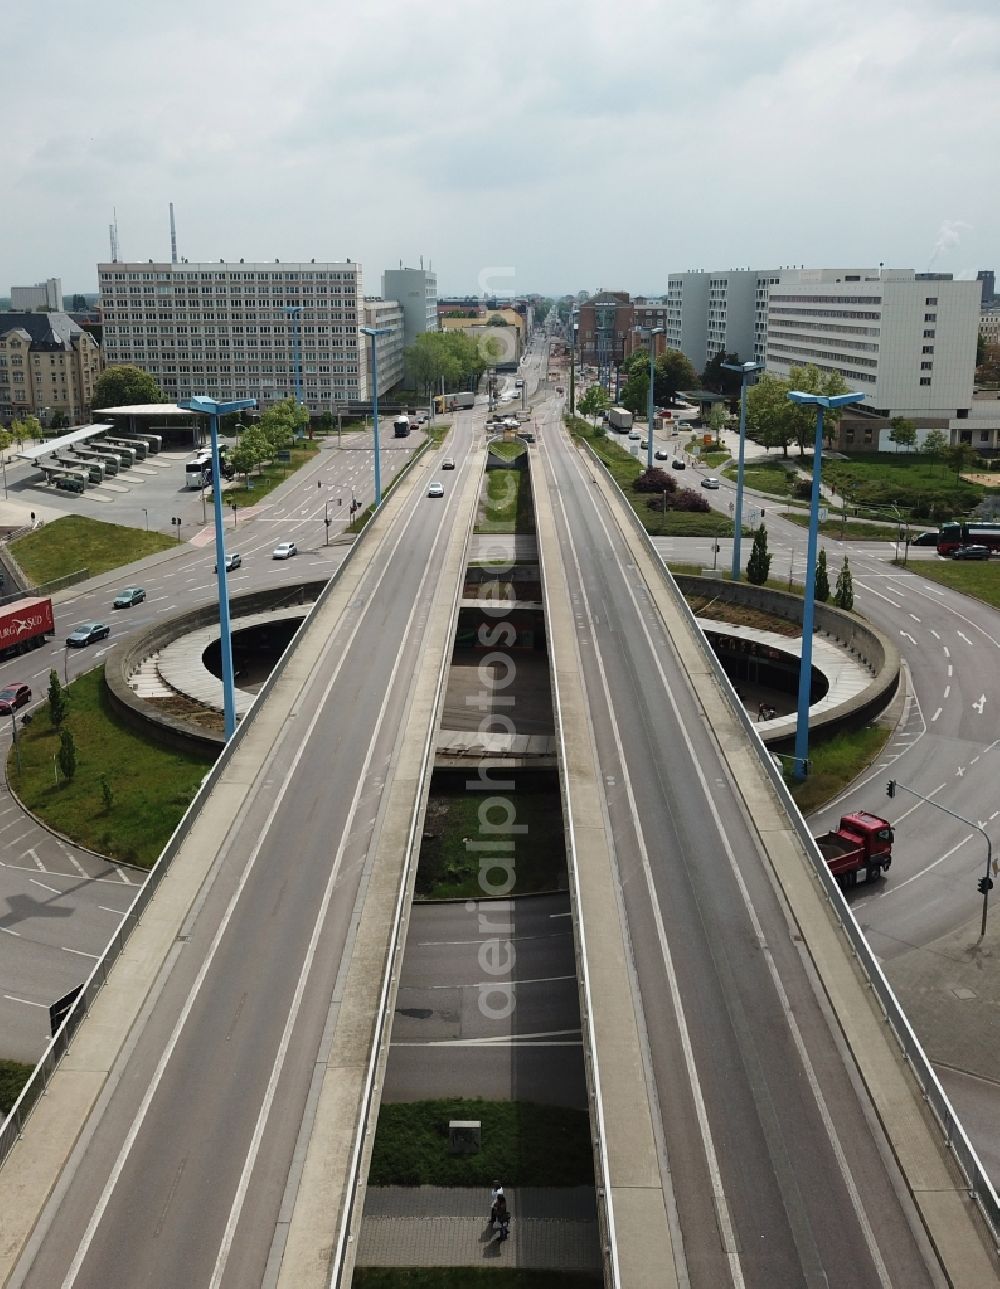
[[(576, 467), (576, 469), (580, 473), (582, 473), (582, 469), (581, 469), (581, 465), (580, 465), (579, 460), (575, 460), (573, 465)], [(559, 503), (559, 508), (563, 512), (563, 521), (564, 521), (564, 523), (567, 526), (567, 531), (568, 531), (568, 521), (566, 518), (566, 508), (564, 508), (562, 498), (558, 495), (558, 492), (557, 492), (557, 499), (558, 499), (558, 503)], [(619, 567), (622, 568), (622, 562), (621, 562), (621, 558), (619, 556), (619, 549), (615, 545), (615, 543), (611, 540), (611, 534), (608, 532), (608, 530), (607, 530), (607, 527), (604, 525), (604, 518), (601, 514), (601, 512), (597, 509), (597, 505), (594, 507), (594, 512), (595, 512), (598, 523), (604, 530), (604, 536), (606, 536), (607, 543), (608, 543), (607, 549), (610, 549), (612, 552), (612, 558), (616, 559), (617, 563), (619, 563)], [(579, 563), (579, 559), (577, 559), (577, 556), (576, 556), (576, 548), (573, 547), (572, 539), (570, 539), (570, 547), (571, 547), (572, 553), (573, 553), (573, 562), (576, 563), (577, 577), (579, 577), (579, 580), (580, 580), (580, 583), (582, 585), (582, 574), (581, 574), (581, 570), (580, 570), (580, 563)], [(678, 708), (677, 699), (674, 697), (674, 691), (673, 691), (673, 688), (670, 686), (670, 682), (666, 678), (666, 673), (664, 672), (662, 664), (660, 661), (660, 652), (653, 646), (653, 639), (652, 639), (652, 635), (649, 633), (649, 626), (648, 626), (648, 624), (646, 621), (646, 616), (639, 610), (639, 603), (638, 603), (638, 599), (637, 599), (637, 597), (634, 594), (634, 589), (633, 589), (633, 579), (626, 577), (624, 575), (624, 568), (622, 568), (622, 585), (625, 588), (625, 593), (631, 599), (633, 608), (635, 610), (635, 616), (637, 616), (637, 619), (639, 621), (639, 625), (642, 626), (643, 635), (646, 637), (646, 642), (647, 642), (647, 646), (648, 646), (648, 650), (649, 650), (649, 656), (651, 656), (651, 659), (653, 661), (653, 665), (655, 665), (656, 670), (660, 674), (660, 683), (662, 686), (664, 693), (666, 695), (668, 703), (670, 704), (670, 708), (673, 709), (674, 719), (677, 722), (677, 728), (679, 730), (680, 737), (682, 737), (682, 740), (683, 740), (683, 742), (684, 742), (684, 745), (687, 748), (688, 759), (691, 761), (691, 764), (692, 764), (692, 767), (695, 770), (695, 773), (698, 777), (698, 782), (701, 784), (701, 790), (702, 790), (702, 794), (704, 794), (704, 798), (705, 798), (705, 803), (707, 806), (709, 813), (713, 817), (713, 822), (715, 824), (715, 830), (716, 830), (716, 833), (719, 835), (719, 840), (722, 842), (723, 849), (726, 851), (726, 857), (728, 860), (729, 869), (731, 869), (731, 871), (733, 874), (733, 879), (735, 879), (735, 882), (736, 882), (736, 884), (737, 884), (737, 887), (740, 889), (740, 895), (742, 897), (744, 906), (746, 909), (746, 914), (747, 914), (747, 916), (749, 916), (749, 919), (751, 922), (751, 926), (754, 928), (754, 935), (756, 937), (758, 945), (760, 946), (763, 960), (764, 960), (764, 963), (767, 965), (768, 974), (771, 976), (772, 987), (774, 989), (774, 993), (778, 996), (778, 1002), (781, 1004), (781, 1009), (782, 1009), (782, 1012), (785, 1014), (785, 1021), (786, 1021), (786, 1023), (789, 1026), (789, 1032), (791, 1034), (793, 1042), (794, 1042), (795, 1048), (796, 1048), (796, 1051), (799, 1053), (799, 1060), (800, 1060), (803, 1070), (805, 1072), (805, 1078), (807, 1078), (807, 1080), (809, 1083), (809, 1089), (811, 1089), (811, 1092), (813, 1094), (813, 1100), (816, 1101), (816, 1107), (818, 1110), (820, 1118), (822, 1119), (822, 1124), (823, 1124), (823, 1128), (826, 1130), (827, 1141), (830, 1142), (830, 1147), (831, 1147), (831, 1150), (834, 1152), (834, 1156), (836, 1159), (838, 1168), (840, 1170), (840, 1177), (841, 1177), (843, 1183), (844, 1183), (844, 1186), (845, 1186), (845, 1188), (848, 1191), (848, 1195), (851, 1197), (852, 1208), (853, 1208), (853, 1210), (854, 1210), (854, 1213), (857, 1216), (857, 1221), (858, 1221), (858, 1225), (861, 1227), (862, 1235), (865, 1237), (865, 1243), (867, 1245), (869, 1254), (871, 1257), (871, 1261), (872, 1261), (872, 1265), (874, 1265), (874, 1268), (875, 1268), (875, 1274), (878, 1275), (879, 1281), (881, 1283), (881, 1285), (884, 1286), (884, 1289), (893, 1289), (892, 1280), (889, 1277), (889, 1272), (888, 1272), (888, 1270), (885, 1267), (885, 1262), (883, 1261), (883, 1257), (881, 1257), (881, 1250), (879, 1249), (878, 1241), (875, 1239), (875, 1232), (874, 1232), (874, 1230), (871, 1227), (871, 1222), (869, 1221), (869, 1216), (865, 1212), (865, 1208), (862, 1205), (861, 1195), (860, 1195), (858, 1188), (857, 1188), (857, 1182), (854, 1181), (854, 1176), (851, 1172), (851, 1165), (848, 1164), (847, 1155), (844, 1154), (844, 1147), (843, 1147), (843, 1145), (840, 1142), (840, 1137), (839, 1137), (839, 1134), (836, 1132), (836, 1125), (834, 1124), (832, 1115), (830, 1114), (830, 1109), (829, 1109), (829, 1106), (826, 1103), (826, 1098), (823, 1097), (822, 1088), (820, 1087), (820, 1080), (817, 1078), (816, 1070), (813, 1067), (812, 1060), (811, 1060), (808, 1049), (805, 1047), (805, 1040), (803, 1039), (802, 1031), (799, 1029), (799, 1023), (795, 1020), (795, 1014), (794, 1014), (793, 1008), (791, 1008), (791, 1002), (790, 1002), (787, 994), (785, 993), (785, 985), (784, 985), (784, 982), (781, 980), (781, 976), (778, 973), (777, 965), (774, 964), (774, 959), (773, 959), (773, 956), (771, 954), (771, 950), (768, 949), (767, 937), (764, 936), (763, 927), (760, 926), (760, 922), (759, 922), (758, 915), (756, 915), (756, 909), (753, 905), (753, 901), (750, 898), (750, 892), (746, 888), (746, 883), (744, 882), (744, 875), (740, 871), (740, 866), (738, 866), (738, 864), (736, 861), (736, 853), (733, 852), (732, 844), (729, 842), (729, 837), (726, 833), (726, 829), (723, 828), (722, 817), (720, 817), (718, 807), (715, 804), (715, 795), (714, 795), (714, 793), (709, 788), (707, 779), (705, 777), (705, 773), (704, 773), (704, 771), (701, 768), (701, 763), (700, 763), (700, 761), (698, 761), (698, 758), (697, 758), (697, 755), (695, 753), (695, 746), (693, 746), (693, 744), (691, 741), (691, 736), (688, 735), (687, 724), (684, 723), (684, 721), (680, 717), (680, 709)], [(584, 598), (586, 599), (586, 590), (584, 590)], [(598, 666), (601, 666), (602, 665), (602, 660), (601, 660), (599, 644), (597, 642), (597, 635), (594, 637), (594, 651), (595, 651), (595, 655), (597, 655), (597, 659), (598, 659)], [(602, 668), (602, 682), (604, 684), (606, 701), (610, 704), (612, 730), (616, 732), (616, 736), (617, 736), (617, 722), (615, 721), (613, 706), (611, 706), (611, 695), (610, 695), (610, 692), (607, 690), (607, 681), (606, 681), (604, 674), (603, 674), (603, 668)], [(710, 732), (710, 736), (711, 736), (711, 732)], [(716, 744), (716, 746), (718, 746), (718, 744)], [(621, 749), (620, 749), (620, 754), (621, 754)], [(624, 766), (624, 758), (622, 758), (622, 766)], [(628, 772), (626, 772), (626, 782), (629, 782)], [(629, 784), (629, 786), (630, 786), (630, 784)], [(633, 819), (635, 820), (635, 828), (637, 828), (637, 833), (638, 833), (639, 831), (639, 824), (638, 824), (639, 816), (638, 816), (638, 812), (635, 811), (635, 803), (634, 803), (634, 800), (633, 800), (631, 804), (633, 804), (633, 811), (634, 811)], [(659, 910), (659, 905), (656, 905), (656, 909)], [(657, 919), (657, 928), (659, 928), (659, 926), (660, 926), (660, 922)], [(736, 1252), (736, 1250), (733, 1250), (733, 1252)], [(738, 1270), (738, 1261), (737, 1261), (737, 1270)], [(740, 1281), (738, 1283), (742, 1284), (742, 1274), (741, 1272), (740, 1272)]]

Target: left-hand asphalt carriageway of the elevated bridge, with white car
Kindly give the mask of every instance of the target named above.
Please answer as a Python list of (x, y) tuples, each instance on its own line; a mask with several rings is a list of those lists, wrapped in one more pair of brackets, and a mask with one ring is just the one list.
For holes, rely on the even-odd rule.
[[(470, 437), (456, 432), (448, 496), (464, 485)], [(424, 624), (436, 599), (454, 594), (438, 583), (456, 508), (424, 495), (429, 467), (416, 473), (412, 492), (390, 503), (397, 517), (343, 612), (296, 639), (281, 682), (285, 715), (274, 721), (276, 692), (259, 722), (263, 742), (247, 731), (202, 811), (216, 844), (193, 853), (196, 830), (157, 892), (155, 907), (169, 906), (188, 865), (205, 864), (12, 1284), (264, 1283), (313, 1071), (336, 1025)], [(156, 926), (151, 909), (130, 951)], [(85, 1032), (99, 1043), (89, 1022)], [(81, 1032), (63, 1062), (71, 1096), (88, 1078), (76, 1063), (86, 1051)], [(28, 1133), (44, 1128), (44, 1105)], [(58, 1137), (43, 1141), (31, 1167), (59, 1148)], [(12, 1165), (30, 1170), (21, 1148), (4, 1181)], [(23, 1200), (23, 1187), (14, 1192)], [(12, 1194), (5, 1252), (15, 1239)]]

